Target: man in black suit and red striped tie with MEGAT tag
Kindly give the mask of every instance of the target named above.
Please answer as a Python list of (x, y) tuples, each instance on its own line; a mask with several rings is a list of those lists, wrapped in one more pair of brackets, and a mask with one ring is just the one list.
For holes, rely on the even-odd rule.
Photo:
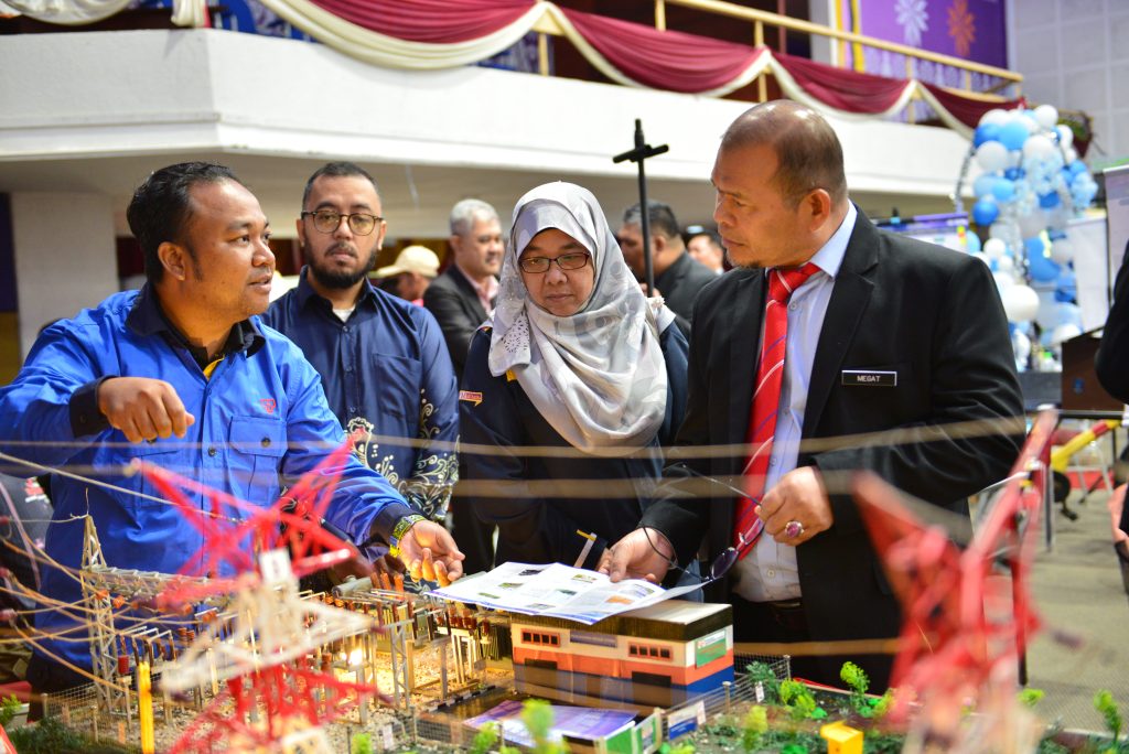
[[(680, 450), (749, 442), (767, 269), (812, 262), (816, 271), (787, 304), (765, 492), (753, 499), (764, 533), (707, 598), (732, 600), (738, 641), (895, 637), (901, 612), (849, 493), (850, 472), (869, 470), (961, 512), (969, 494), (1006, 475), (1023, 403), (991, 273), (875, 228), (847, 196), (834, 131), (797, 103), (738, 117), (712, 183), (714, 217), (739, 269), (698, 298)], [(602, 570), (662, 579), (703, 537), (711, 558), (735, 544), (729, 490), (749, 482), (746, 449), (674, 456), (664, 497)], [(691, 484), (709, 497), (690, 497)], [(863, 666), (872, 690), (889, 684), (886, 655), (800, 657), (794, 669), (838, 685), (843, 659)]]

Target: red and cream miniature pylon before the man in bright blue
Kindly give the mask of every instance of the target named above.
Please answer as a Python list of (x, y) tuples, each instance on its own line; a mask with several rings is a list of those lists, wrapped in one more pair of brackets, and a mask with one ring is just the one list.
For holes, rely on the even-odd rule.
[[(224, 575), (205, 584), (172, 585), (158, 604), (175, 606), (221, 591), (234, 594), (236, 602), (230, 635), (220, 641), (217, 629), (210, 630), (164, 674), (161, 685), (169, 690), (189, 689), (213, 677), (227, 680), (226, 689), (184, 731), (173, 752), (207, 752), (224, 739), (240, 751), (251, 746), (277, 748), (285, 740), (296, 742), (296, 731), (310, 731), (347, 714), (377, 692), (375, 686), (315, 672), (308, 657), (324, 643), (369, 631), (371, 621), (298, 598), (299, 576), (357, 555), (356, 547), (322, 527), (350, 448), (351, 440), (269, 508), (163, 468), (140, 465), (203, 535), (202, 546), (182, 573), (203, 570)], [(202, 514), (184, 490), (207, 500), (210, 512)], [(225, 511), (246, 518), (233, 520)], [(287, 547), (294, 554), (292, 562)], [(253, 570), (253, 552), (263, 553), (259, 572)], [(257, 722), (261, 714), (265, 720)], [(321, 739), (310, 733), (299, 738), (305, 751)]]

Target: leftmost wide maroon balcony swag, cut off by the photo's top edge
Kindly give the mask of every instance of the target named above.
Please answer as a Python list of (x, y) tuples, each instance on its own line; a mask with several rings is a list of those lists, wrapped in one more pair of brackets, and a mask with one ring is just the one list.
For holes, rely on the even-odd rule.
[(310, 0), (322, 10), (409, 42), (452, 44), (492, 34), (532, 8), (534, 0)]

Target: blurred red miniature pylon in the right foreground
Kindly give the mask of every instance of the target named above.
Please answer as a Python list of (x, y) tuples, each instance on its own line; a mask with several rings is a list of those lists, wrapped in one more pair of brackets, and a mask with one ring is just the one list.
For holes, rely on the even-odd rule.
[[(1027, 576), (1049, 480), (1042, 459), (1056, 421), (1054, 411), (1035, 419), (1007, 484), (963, 553), (943, 528), (913, 516), (890, 485), (873, 475), (856, 483), (863, 520), (902, 603), (891, 718), (904, 720), (914, 695), (921, 704), (905, 751), (1027, 751), (1023, 742), (1033, 728), (1015, 692), (1026, 642), (1040, 628)], [(994, 578), (998, 564), (1010, 572), (1009, 595)], [(974, 729), (961, 713), (970, 699), (979, 701)]]

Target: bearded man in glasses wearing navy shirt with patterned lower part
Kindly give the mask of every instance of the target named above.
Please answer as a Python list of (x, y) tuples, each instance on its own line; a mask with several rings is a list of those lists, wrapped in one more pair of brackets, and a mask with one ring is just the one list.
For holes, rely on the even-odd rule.
[(386, 229), (380, 214), (364, 168), (318, 168), (297, 221), (306, 268), (263, 322), (314, 365), (345, 431), (364, 432), (361, 463), (441, 521), (458, 481), (458, 385), (431, 313), (368, 281)]

